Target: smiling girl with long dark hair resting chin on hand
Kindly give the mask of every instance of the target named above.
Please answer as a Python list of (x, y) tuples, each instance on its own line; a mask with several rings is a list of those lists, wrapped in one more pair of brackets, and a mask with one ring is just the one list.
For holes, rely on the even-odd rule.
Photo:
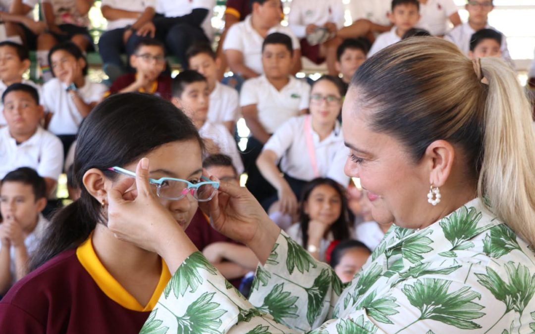
[(349, 238), (347, 201), (337, 181), (318, 177), (303, 187), (299, 222), (286, 232), (317, 260), (325, 261), (333, 240)]

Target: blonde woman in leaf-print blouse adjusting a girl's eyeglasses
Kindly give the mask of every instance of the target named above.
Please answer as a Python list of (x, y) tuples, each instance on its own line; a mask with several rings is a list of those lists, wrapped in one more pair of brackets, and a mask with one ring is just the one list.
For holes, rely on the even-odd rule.
[[(110, 199), (111, 228), (162, 254), (174, 276), (144, 329), (211, 333), (528, 332), (535, 325), (535, 135), (530, 105), (500, 59), (471, 61), (435, 37), (366, 60), (343, 105), (373, 218), (394, 226), (341, 285), (269, 221), (245, 189), (221, 184), (213, 226), (261, 261), (244, 300), (150, 192)], [(138, 184), (146, 187), (146, 174)], [(154, 203), (154, 204), (153, 204)], [(150, 209), (152, 215), (164, 212)], [(147, 224), (150, 221), (151, 224)]]

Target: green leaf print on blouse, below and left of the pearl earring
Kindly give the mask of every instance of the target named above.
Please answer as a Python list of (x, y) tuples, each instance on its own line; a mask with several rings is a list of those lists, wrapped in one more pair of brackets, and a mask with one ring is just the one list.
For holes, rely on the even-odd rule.
[(428, 229), (404, 237), (404, 239), (386, 250), (385, 254), (387, 259), (393, 255), (401, 254), (404, 259), (407, 259), (411, 263), (422, 261), (424, 259), (422, 254), (433, 250), (433, 248), (429, 246), (429, 244), (433, 243), (433, 240), (426, 237), (426, 235), (431, 233), (432, 230)]

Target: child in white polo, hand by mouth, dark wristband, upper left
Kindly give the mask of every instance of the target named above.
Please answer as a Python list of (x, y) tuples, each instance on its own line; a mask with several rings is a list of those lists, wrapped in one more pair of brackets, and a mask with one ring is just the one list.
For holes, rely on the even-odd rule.
[(72, 42), (55, 45), (48, 53), (53, 79), (43, 85), (43, 105), (48, 130), (63, 142), (64, 154), (78, 133), (78, 127), (106, 91), (102, 83), (87, 77), (87, 61)]

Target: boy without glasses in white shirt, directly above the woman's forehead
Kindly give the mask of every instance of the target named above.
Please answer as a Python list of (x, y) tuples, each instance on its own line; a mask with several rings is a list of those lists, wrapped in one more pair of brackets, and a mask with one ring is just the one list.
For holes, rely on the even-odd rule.
[(388, 18), (394, 25), (392, 29), (379, 35), (368, 52), (368, 58), (389, 45), (401, 41), (407, 30), (414, 27), (420, 19), (420, 3), (418, 0), (392, 0), (392, 12)]

